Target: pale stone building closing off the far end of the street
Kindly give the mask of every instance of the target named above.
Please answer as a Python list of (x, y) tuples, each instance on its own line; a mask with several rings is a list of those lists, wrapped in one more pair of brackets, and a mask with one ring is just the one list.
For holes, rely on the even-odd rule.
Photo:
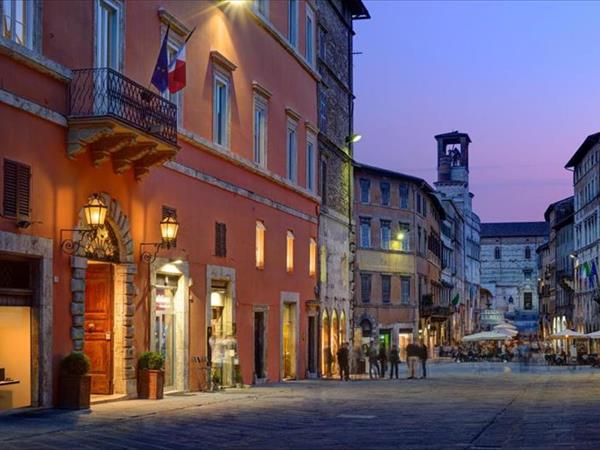
[(547, 235), (545, 222), (481, 224), (481, 285), (492, 293), (495, 309), (522, 322), (522, 332), (537, 333), (539, 275), (535, 251), (546, 242)]

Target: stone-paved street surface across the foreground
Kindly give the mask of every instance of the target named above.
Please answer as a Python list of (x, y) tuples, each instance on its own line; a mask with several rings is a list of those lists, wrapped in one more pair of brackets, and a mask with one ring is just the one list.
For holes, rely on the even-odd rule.
[(0, 416), (0, 449), (600, 448), (600, 371), (490, 367)]

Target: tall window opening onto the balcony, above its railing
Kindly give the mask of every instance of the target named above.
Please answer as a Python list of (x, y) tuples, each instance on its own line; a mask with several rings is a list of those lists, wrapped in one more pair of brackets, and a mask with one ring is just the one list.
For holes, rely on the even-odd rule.
[(96, 9), (96, 67), (121, 70), (122, 3), (98, 0)]

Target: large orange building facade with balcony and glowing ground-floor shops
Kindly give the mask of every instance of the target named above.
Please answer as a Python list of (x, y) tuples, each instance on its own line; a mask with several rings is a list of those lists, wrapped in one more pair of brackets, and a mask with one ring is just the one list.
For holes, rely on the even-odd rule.
[[(0, 409), (53, 404), (73, 350), (91, 357), (96, 394), (135, 395), (146, 350), (165, 355), (174, 391), (209, 377), (308, 376), (318, 352), (315, 5), (9, 5), (0, 369), (19, 383), (0, 386)], [(187, 86), (170, 98), (149, 87), (167, 27), (171, 55), (195, 30)], [(107, 212), (91, 232), (93, 199)], [(167, 217), (179, 224), (169, 246)]]

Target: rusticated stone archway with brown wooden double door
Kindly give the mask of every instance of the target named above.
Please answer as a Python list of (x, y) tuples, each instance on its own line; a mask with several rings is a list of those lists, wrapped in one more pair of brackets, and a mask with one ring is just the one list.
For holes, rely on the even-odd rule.
[[(137, 273), (133, 240), (119, 202), (105, 193), (100, 197), (108, 207), (105, 224), (71, 257), (71, 340), (74, 350), (91, 359), (92, 393), (132, 395)], [(77, 228), (86, 228), (83, 206)]]

